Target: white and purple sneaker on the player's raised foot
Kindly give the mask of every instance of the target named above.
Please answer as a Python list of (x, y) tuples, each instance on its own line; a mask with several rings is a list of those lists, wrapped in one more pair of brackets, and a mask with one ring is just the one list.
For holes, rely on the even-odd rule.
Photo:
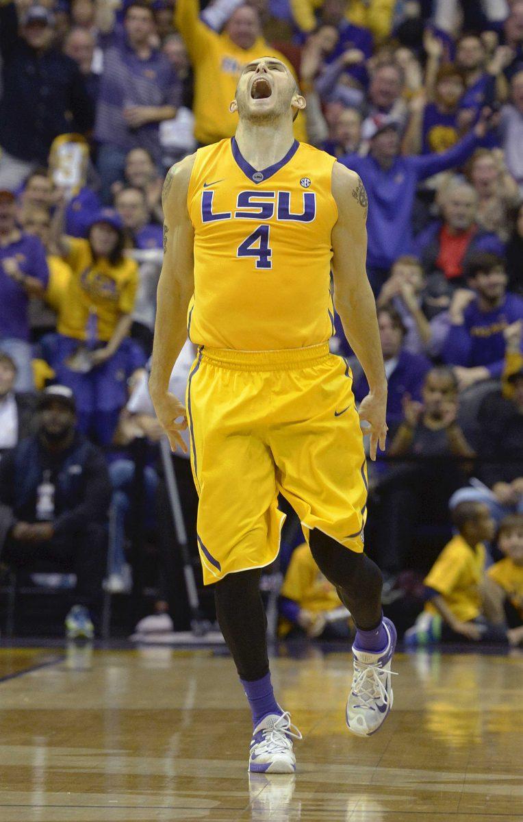
[(365, 651), (353, 644), (354, 677), (346, 702), (346, 724), (358, 737), (370, 737), (378, 731), (392, 708), (392, 654), (396, 648), (396, 628), (383, 617), (388, 644), (381, 653)]

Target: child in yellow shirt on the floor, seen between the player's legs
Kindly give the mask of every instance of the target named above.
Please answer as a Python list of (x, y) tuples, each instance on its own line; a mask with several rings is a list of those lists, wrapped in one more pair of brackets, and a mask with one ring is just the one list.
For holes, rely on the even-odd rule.
[(292, 552), (280, 592), (279, 635), (298, 626), (311, 637), (346, 639), (351, 635), (349, 613), (334, 585), (323, 576), (307, 543)]

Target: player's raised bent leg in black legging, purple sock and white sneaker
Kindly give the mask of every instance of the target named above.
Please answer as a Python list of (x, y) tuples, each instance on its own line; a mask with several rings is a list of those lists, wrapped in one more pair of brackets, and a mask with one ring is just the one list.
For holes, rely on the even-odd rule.
[(310, 550), (356, 624), (346, 723), (357, 736), (369, 737), (383, 725), (394, 698), (391, 662), (397, 635), (392, 621), (382, 614), (381, 571), (368, 556), (351, 552), (318, 529), (310, 533)]

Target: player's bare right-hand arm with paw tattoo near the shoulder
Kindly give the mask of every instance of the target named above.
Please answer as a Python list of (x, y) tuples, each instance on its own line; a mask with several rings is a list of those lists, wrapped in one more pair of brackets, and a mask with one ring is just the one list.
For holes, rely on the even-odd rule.
[(333, 196), (338, 219), (333, 228), (334, 302), (346, 339), (369, 383), (360, 404), (360, 418), (370, 424), (370, 457), (385, 448), (387, 380), (379, 341), (376, 303), (365, 269), (367, 256), (367, 193), (358, 175), (340, 163), (333, 166)]

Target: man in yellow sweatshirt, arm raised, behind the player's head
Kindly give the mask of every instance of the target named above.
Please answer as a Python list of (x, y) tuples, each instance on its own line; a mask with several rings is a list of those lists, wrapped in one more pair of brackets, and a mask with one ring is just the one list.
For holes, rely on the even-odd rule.
[[(241, 72), (250, 62), (275, 57), (295, 73), (287, 58), (265, 41), (258, 12), (251, 6), (236, 8), (218, 34), (200, 20), (198, 0), (177, 0), (175, 23), (195, 72), (195, 137), (202, 145), (232, 137), (236, 131), (237, 117), (228, 109)], [(303, 113), (296, 119), (294, 135), (306, 141)]]

